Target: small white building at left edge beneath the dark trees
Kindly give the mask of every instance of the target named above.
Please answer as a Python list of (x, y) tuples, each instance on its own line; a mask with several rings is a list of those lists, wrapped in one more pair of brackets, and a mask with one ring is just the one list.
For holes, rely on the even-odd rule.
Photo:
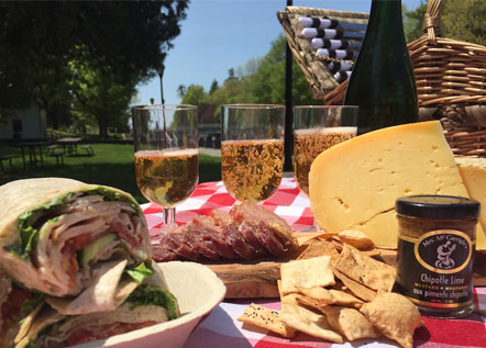
[(37, 103), (27, 109), (10, 110), (0, 119), (0, 139), (44, 139), (46, 115)]

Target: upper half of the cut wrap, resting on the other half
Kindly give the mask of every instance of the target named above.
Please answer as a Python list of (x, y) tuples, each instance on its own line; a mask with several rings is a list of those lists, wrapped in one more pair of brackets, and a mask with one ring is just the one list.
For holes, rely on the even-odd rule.
[[(126, 260), (130, 268), (151, 260), (145, 217), (133, 197), (119, 189), (25, 179), (1, 186), (0, 199), (0, 267), (26, 289), (78, 295), (103, 262)], [(88, 248), (95, 249), (89, 257)]]

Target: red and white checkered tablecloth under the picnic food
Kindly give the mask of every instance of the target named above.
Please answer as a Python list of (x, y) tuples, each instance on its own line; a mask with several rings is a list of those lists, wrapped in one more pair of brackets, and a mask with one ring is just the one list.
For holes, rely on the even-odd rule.
[[(235, 200), (231, 198), (224, 184), (219, 182), (205, 182), (197, 187), (192, 195), (177, 207), (177, 223), (185, 224), (196, 215), (208, 215), (213, 209), (229, 211)], [(274, 211), (285, 218), (295, 231), (305, 229), (313, 224), (309, 209), (309, 200), (297, 188), (295, 180), (283, 179), (278, 191), (263, 203), (266, 209)], [(162, 223), (162, 210), (155, 204), (142, 205), (147, 218), (151, 233), (155, 234)], [(476, 288), (474, 293), (476, 307), (486, 313), (486, 288)], [(251, 303), (279, 310), (278, 299), (246, 299), (222, 302), (210, 315), (201, 322), (189, 336), (185, 348), (192, 347), (395, 347), (396, 344), (388, 339), (357, 340), (344, 345), (336, 345), (298, 334), (292, 339), (281, 338), (265, 329), (243, 328), (236, 318)], [(486, 347), (486, 324), (484, 315), (474, 313), (459, 319), (438, 319), (423, 317), (426, 325), (416, 330), (413, 346), (420, 347)]]

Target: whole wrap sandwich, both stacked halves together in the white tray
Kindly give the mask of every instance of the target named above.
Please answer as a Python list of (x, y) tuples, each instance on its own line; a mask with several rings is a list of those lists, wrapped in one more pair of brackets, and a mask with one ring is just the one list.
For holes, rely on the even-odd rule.
[(43, 178), (7, 183), (0, 199), (1, 347), (69, 346), (179, 315), (130, 194)]

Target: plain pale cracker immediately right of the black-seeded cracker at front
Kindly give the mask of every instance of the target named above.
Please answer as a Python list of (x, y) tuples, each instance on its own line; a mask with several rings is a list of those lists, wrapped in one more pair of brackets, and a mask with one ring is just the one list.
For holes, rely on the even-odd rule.
[(306, 308), (297, 302), (298, 294), (288, 294), (281, 299), (280, 319), (296, 330), (342, 344), (342, 336), (332, 329), (325, 315)]

